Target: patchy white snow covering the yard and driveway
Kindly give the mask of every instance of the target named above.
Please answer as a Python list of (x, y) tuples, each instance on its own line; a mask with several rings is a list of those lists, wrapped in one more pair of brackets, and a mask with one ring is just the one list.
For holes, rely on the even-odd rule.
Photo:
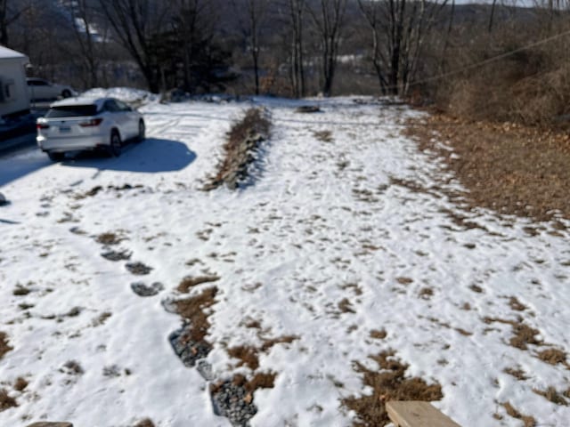
[[(214, 415), (208, 382), (167, 340), (181, 318), (161, 301), (182, 297), (184, 277), (204, 274), (220, 277), (191, 291), (219, 289), (208, 333), (216, 380), (251, 374), (227, 354), (261, 345), (249, 321), (268, 338), (298, 337), (260, 354), (256, 372), (277, 377), (256, 391), (252, 426), (351, 425), (341, 399), (370, 392), (354, 361), (376, 369), (369, 356), (389, 349), (410, 365), (407, 375), (442, 385), (434, 405), (463, 426), (522, 425), (503, 402), (539, 425), (566, 425), (570, 407), (533, 389), (568, 388), (566, 366), (536, 357), (568, 349), (568, 233), (545, 223), (533, 236), (527, 220), (460, 211), (441, 191), (459, 184), (442, 184), (450, 178), (442, 165), (403, 136), (403, 119), (420, 113), (360, 101), (255, 99), (269, 109), (272, 137), (254, 185), (238, 191), (201, 187), (251, 103), (151, 103), (142, 109), (148, 140), (118, 158), (52, 164), (37, 149), (0, 158), (0, 191), (11, 202), (0, 207), (0, 331), (13, 347), (0, 361), (0, 388), (19, 405), (0, 412), (0, 425), (128, 427), (143, 417), (160, 427), (230, 425)], [(296, 113), (305, 103), (322, 113)], [(141, 187), (109, 188), (125, 184)], [(460, 227), (449, 213), (480, 227)], [(151, 274), (103, 259), (95, 237), (104, 232), (124, 237), (118, 248)], [(166, 289), (142, 298), (130, 288), (139, 280)], [(19, 285), (31, 292), (14, 294)], [(513, 310), (510, 297), (525, 310)], [(512, 347), (512, 326), (484, 318), (521, 319), (544, 344)], [(387, 337), (372, 339), (381, 329)], [(24, 391), (13, 388), (18, 377)]]

